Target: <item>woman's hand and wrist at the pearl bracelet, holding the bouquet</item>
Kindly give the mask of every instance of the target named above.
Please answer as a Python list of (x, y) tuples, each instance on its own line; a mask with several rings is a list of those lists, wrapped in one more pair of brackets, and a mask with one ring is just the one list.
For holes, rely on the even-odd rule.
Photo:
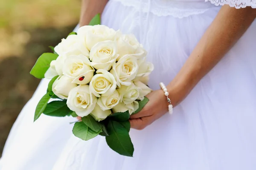
[[(169, 90), (169, 98), (172, 101), (173, 107), (179, 103), (179, 98), (181, 97), (180, 95), (175, 95), (175, 93), (176, 92)], [(131, 115), (129, 120), (131, 128), (143, 130), (145, 127), (168, 112), (168, 102), (163, 90), (155, 90), (149, 93), (146, 97), (149, 101), (145, 107), (143, 107), (139, 113)]]

